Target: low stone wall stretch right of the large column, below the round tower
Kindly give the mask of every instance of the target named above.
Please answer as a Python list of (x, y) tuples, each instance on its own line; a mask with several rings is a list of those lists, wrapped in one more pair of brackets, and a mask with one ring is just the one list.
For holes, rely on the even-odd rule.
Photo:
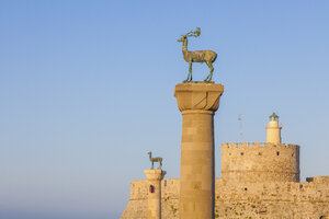
[(217, 218), (320, 219), (329, 216), (328, 182), (231, 184), (218, 178), (215, 214)]

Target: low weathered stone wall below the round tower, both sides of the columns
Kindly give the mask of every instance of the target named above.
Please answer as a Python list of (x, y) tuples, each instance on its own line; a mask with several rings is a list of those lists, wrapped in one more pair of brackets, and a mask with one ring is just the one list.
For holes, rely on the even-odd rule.
[[(161, 182), (162, 219), (179, 218), (179, 180)], [(320, 219), (329, 217), (329, 176), (309, 182), (237, 182), (216, 178), (215, 218)], [(133, 181), (122, 219), (147, 219), (147, 181)]]

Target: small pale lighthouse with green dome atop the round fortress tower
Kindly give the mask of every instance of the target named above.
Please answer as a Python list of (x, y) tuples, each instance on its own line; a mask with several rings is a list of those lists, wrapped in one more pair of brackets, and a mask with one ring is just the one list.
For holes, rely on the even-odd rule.
[(270, 116), (270, 122), (265, 125), (266, 128), (266, 142), (268, 143), (281, 143), (281, 128), (282, 125), (279, 125), (279, 116), (273, 113)]

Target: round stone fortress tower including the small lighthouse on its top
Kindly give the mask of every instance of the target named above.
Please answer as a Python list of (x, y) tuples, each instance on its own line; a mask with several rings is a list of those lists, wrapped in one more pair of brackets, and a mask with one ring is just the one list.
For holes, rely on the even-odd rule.
[(281, 143), (277, 118), (275, 114), (270, 116), (265, 143), (222, 145), (223, 180), (299, 182), (299, 146)]

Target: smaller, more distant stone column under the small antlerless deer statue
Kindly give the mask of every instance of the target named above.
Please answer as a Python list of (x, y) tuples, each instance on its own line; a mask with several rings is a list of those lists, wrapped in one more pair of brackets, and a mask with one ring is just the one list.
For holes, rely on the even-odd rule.
[(161, 180), (166, 171), (145, 170), (148, 180), (148, 200), (147, 200), (147, 219), (161, 219)]

